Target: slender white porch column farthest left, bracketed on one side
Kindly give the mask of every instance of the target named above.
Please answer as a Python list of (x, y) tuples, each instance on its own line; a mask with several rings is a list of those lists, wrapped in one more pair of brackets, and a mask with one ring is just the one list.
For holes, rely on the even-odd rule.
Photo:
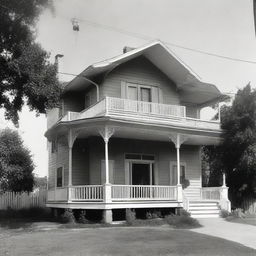
[(74, 142), (78, 133), (72, 129), (68, 131), (68, 201), (71, 201), (71, 187), (72, 187), (72, 150)]

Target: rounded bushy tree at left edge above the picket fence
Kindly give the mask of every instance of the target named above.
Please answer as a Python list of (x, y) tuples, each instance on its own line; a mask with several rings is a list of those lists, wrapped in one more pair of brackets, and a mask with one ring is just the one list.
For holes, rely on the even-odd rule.
[(0, 191), (32, 191), (34, 164), (17, 131), (0, 132)]

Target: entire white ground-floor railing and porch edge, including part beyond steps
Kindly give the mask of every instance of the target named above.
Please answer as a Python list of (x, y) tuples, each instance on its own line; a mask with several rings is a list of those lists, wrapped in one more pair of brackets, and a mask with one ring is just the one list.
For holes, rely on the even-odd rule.
[[(230, 210), (228, 188), (201, 187), (198, 202), (217, 202), (220, 208)], [(71, 208), (83, 209), (114, 209), (144, 207), (183, 207), (190, 210), (190, 199), (180, 186), (161, 185), (84, 185), (48, 190), (48, 206), (69, 204)], [(193, 200), (195, 202), (195, 200)]]

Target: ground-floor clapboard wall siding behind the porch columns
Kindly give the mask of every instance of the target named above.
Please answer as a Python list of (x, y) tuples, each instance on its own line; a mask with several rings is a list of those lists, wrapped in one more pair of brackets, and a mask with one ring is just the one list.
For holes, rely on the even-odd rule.
[[(155, 156), (156, 184), (172, 184), (170, 163), (176, 163), (176, 149), (172, 143), (111, 138), (109, 159), (113, 161), (114, 184), (125, 184), (125, 153)], [(104, 160), (104, 142), (101, 137), (78, 140), (73, 147), (73, 185), (101, 184), (101, 165)], [(200, 147), (182, 145), (180, 159), (186, 165), (189, 187), (201, 187)], [(64, 185), (68, 184), (68, 146), (65, 140), (58, 143), (58, 152), (49, 157), (49, 188), (55, 186), (56, 169), (64, 168)]]

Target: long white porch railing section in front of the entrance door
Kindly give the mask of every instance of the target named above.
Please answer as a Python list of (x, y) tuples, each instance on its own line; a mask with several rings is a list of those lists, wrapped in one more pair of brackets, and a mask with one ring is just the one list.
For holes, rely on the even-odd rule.
[(112, 185), (113, 201), (177, 200), (176, 186)]

